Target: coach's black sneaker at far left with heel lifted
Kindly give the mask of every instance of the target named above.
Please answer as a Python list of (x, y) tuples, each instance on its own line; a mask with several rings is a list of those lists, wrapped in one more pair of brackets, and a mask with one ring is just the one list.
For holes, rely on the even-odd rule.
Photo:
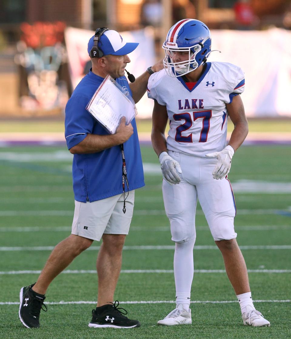
[[(31, 290), (33, 285), (22, 287), (19, 293), (19, 319), (27, 328), (39, 327), (40, 310), (47, 311), (47, 307), (43, 303), (45, 297), (34, 293)], [(45, 309), (42, 308), (42, 305)]]

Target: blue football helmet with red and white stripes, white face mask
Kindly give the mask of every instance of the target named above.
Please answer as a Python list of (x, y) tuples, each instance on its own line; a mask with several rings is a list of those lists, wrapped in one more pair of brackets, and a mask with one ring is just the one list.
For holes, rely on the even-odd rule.
[[(211, 33), (202, 21), (183, 19), (171, 27), (162, 48), (165, 51), (163, 65), (167, 74), (181, 77), (206, 62), (211, 53)], [(175, 52), (188, 52), (188, 60), (174, 62), (172, 54)]]

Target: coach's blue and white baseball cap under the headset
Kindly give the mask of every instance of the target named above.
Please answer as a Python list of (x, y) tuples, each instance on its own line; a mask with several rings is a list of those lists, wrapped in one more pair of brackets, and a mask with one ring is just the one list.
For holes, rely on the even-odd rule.
[[(94, 45), (94, 36), (90, 38), (88, 42), (88, 54), (90, 55), (90, 51)], [(125, 55), (129, 54), (135, 50), (138, 46), (137, 42), (126, 42), (121, 37), (121, 35), (109, 29), (109, 31), (105, 31), (101, 36), (98, 42), (98, 48), (104, 53), (104, 55)]]

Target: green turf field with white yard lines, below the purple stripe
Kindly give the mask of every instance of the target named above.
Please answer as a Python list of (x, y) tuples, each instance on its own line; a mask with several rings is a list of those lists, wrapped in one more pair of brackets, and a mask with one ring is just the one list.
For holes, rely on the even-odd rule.
[(175, 306), (171, 302), (175, 298), (174, 247), (163, 210), (157, 157), (144, 146), (142, 156), (146, 186), (136, 191), (115, 294), (129, 317), (139, 319), (142, 326), (128, 330), (88, 327), (97, 295), (96, 242), (67, 268), (74, 272), (60, 274), (52, 282), (41, 328), (27, 329), (18, 318), (19, 290), (36, 281), (53, 246), (70, 234), (72, 160), (65, 146), (0, 148), (0, 338), (290, 338), (290, 146), (242, 146), (229, 175), (237, 204), (237, 240), (251, 270), (252, 296), (259, 301), (256, 308), (271, 322), (269, 328), (243, 326), (222, 257), (199, 206), (193, 323), (156, 325)]

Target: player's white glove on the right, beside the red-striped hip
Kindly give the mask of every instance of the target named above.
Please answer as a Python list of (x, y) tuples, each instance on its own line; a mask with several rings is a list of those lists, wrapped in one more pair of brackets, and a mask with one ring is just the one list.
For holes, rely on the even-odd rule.
[(220, 152), (206, 154), (207, 158), (217, 158), (218, 162), (212, 173), (213, 179), (223, 179), (230, 171), (234, 149), (228, 145)]

